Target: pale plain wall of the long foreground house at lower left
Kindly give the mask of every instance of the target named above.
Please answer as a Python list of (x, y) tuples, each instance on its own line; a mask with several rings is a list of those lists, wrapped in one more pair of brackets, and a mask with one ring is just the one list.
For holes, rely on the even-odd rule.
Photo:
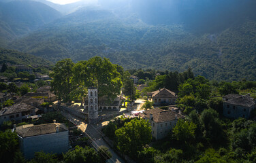
[(65, 153), (69, 149), (68, 131), (56, 132), (53, 134), (43, 134), (35, 137), (20, 139), (20, 149), (25, 158), (31, 159), (37, 151), (46, 153)]

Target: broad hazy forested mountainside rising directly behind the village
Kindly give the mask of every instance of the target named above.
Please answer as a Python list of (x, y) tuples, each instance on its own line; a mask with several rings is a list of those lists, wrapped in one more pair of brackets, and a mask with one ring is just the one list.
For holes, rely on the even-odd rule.
[[(53, 62), (63, 58), (78, 62), (102, 56), (125, 69), (185, 71), (191, 67), (195, 75), (204, 75), (209, 79), (256, 79), (256, 16), (252, 11), (256, 3), (244, 0), (239, 5), (239, 1), (234, 0), (230, 5), (230, 0), (223, 3), (206, 0), (198, 7), (204, 10), (197, 13), (193, 7), (200, 1), (192, 1), (190, 5), (184, 6), (182, 4), (188, 0), (161, 2), (158, 5), (162, 5), (163, 11), (153, 17), (151, 14), (155, 12), (148, 13), (148, 20), (138, 12), (140, 9), (136, 9), (139, 3), (144, 6), (144, 0), (138, 4), (134, 4), (133, 0), (127, 1), (125, 5), (129, 5), (129, 8), (123, 14), (123, 7), (118, 8), (118, 5), (118, 10), (108, 10), (104, 6), (80, 7), (76, 12), (54, 17), (54, 20), (27, 32), (27, 35), (4, 43), (8, 48), (48, 58)], [(209, 4), (206, 4), (207, 1)], [(151, 6), (144, 6), (145, 10), (154, 5), (157, 7), (156, 2), (148, 0)], [(187, 10), (181, 14), (180, 21), (171, 20), (168, 17), (170, 14), (164, 16), (171, 2), (177, 3), (177, 8), (181, 7), (182, 11)], [(218, 8), (219, 4), (223, 6)], [(210, 5), (212, 9), (208, 11)], [(232, 7), (227, 10), (229, 5)], [(245, 9), (244, 6), (248, 5), (251, 6)], [(241, 14), (234, 12), (236, 9)], [(215, 17), (214, 10), (217, 13)], [(163, 18), (160, 18), (161, 14)], [(186, 22), (185, 17), (189, 14), (189, 18), (199, 16), (198, 20)], [(165, 18), (166, 21), (162, 22)], [(9, 30), (6, 22), (2, 26), (5, 31)], [(0, 38), (8, 39), (8, 35), (0, 35)], [(3, 46), (3, 43), (0, 45)]]

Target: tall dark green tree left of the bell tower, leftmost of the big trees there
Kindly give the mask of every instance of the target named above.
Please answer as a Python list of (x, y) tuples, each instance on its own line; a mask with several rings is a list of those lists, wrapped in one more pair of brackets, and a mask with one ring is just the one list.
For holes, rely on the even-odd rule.
[(71, 79), (73, 77), (72, 68), (74, 67), (74, 62), (71, 59), (64, 59), (53, 67), (50, 77), (52, 77), (52, 90), (57, 95), (59, 99), (63, 102), (71, 101), (71, 91), (74, 88)]

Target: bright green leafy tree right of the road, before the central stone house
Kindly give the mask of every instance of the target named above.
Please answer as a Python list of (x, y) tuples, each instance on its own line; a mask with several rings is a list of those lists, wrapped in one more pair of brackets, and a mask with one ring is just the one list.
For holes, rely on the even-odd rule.
[(151, 126), (145, 120), (131, 120), (131, 122), (125, 123), (125, 126), (116, 130), (115, 134), (118, 139), (118, 149), (133, 157), (152, 139)]

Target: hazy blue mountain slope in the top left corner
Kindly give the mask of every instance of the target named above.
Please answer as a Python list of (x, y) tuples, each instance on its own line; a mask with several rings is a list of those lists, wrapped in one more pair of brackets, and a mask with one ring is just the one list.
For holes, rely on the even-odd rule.
[(8, 41), (25, 35), (61, 14), (48, 5), (35, 1), (0, 1), (0, 41)]

